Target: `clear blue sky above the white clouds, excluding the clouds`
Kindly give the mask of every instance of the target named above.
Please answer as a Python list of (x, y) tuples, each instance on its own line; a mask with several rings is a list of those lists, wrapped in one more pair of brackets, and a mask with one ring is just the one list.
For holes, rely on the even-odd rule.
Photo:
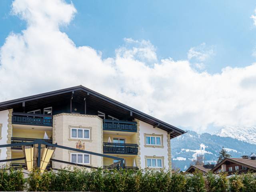
[[(67, 1), (69, 2), (69, 1)], [(24, 21), (10, 15), (11, 0), (0, 1), (0, 45), (13, 32), (26, 28)], [(158, 59), (184, 60), (191, 47), (203, 42), (214, 46), (214, 56), (206, 64), (210, 73), (226, 66), (247, 66), (255, 62), (256, 29), (250, 16), (252, 0), (216, 1), (73, 1), (74, 20), (62, 31), (77, 46), (88, 45), (114, 56), (124, 38), (145, 39), (156, 47)]]

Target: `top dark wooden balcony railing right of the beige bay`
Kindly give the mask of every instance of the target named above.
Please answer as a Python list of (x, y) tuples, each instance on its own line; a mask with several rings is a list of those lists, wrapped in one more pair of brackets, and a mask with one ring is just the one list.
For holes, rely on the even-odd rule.
[(137, 132), (137, 122), (105, 119), (103, 120), (103, 130)]

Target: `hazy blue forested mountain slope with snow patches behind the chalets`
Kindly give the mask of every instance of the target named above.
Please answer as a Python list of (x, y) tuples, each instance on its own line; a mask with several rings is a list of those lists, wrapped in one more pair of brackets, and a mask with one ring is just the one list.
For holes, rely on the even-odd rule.
[(222, 147), (232, 157), (256, 152), (256, 145), (230, 137), (208, 133), (198, 134), (188, 130), (186, 134), (171, 140), (173, 168), (186, 170), (198, 155), (204, 155), (205, 163), (215, 164)]

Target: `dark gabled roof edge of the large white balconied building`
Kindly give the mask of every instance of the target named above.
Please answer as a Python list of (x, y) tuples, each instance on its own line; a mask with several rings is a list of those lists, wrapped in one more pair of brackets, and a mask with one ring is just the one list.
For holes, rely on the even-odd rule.
[(20, 106), (22, 104), (22, 102), (32, 102), (33, 100), (42, 100), (45, 98), (53, 98), (54, 96), (59, 96), (59, 95), (64, 95), (64, 94), (68, 94), (70, 92), (75, 92), (75, 91), (82, 91), (85, 92), (88, 95), (92, 95), (95, 98), (97, 98), (97, 100), (100, 100), (102, 102), (108, 102), (108, 104), (111, 104), (113, 106), (116, 106), (122, 110), (126, 110), (129, 111), (133, 114), (133, 116), (139, 120), (142, 120), (144, 122), (147, 122), (151, 125), (157, 126), (160, 129), (166, 130), (168, 132), (170, 132), (171, 138), (174, 138), (176, 136), (179, 136), (181, 134), (186, 133), (184, 130), (181, 130), (175, 126), (172, 126), (166, 122), (163, 122), (161, 120), (158, 120), (150, 115), (147, 115), (143, 112), (140, 112), (132, 107), (129, 107), (125, 104), (122, 104), (116, 100), (113, 100), (111, 98), (108, 98), (98, 92), (95, 92), (93, 90), (90, 90), (82, 85), (79, 86), (75, 86), (75, 87), (70, 87), (70, 88), (66, 88), (66, 89), (61, 89), (61, 90), (56, 90), (56, 91), (52, 91), (52, 92), (46, 92), (46, 93), (42, 93), (42, 94), (37, 94), (37, 95), (33, 95), (33, 96), (28, 96), (28, 97), (24, 97), (24, 98), (19, 98), (19, 99), (14, 99), (14, 100), (9, 100), (9, 101), (5, 101), (5, 102), (0, 102), (0, 111), (1, 110), (6, 110), (6, 109), (10, 109), (10, 108), (14, 108), (15, 106)]

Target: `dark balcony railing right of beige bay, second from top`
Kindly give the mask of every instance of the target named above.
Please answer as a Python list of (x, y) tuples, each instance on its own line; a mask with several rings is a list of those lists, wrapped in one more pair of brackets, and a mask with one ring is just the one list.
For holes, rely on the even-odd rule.
[(103, 153), (137, 155), (138, 145), (128, 143), (103, 143)]

